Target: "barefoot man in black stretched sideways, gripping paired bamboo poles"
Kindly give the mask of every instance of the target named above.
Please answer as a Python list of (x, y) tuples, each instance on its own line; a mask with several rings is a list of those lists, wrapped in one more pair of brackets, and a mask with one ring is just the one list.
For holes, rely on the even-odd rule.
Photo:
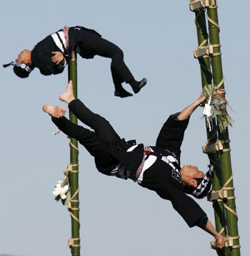
[(198, 226), (216, 238), (221, 249), (223, 237), (216, 232), (206, 213), (194, 199), (204, 197), (211, 187), (212, 166), (204, 174), (196, 166), (180, 166), (181, 143), (191, 113), (204, 102), (201, 96), (180, 113), (170, 115), (164, 123), (156, 146), (136, 145), (125, 141), (109, 122), (74, 98), (72, 83), (59, 97), (69, 104), (69, 110), (94, 131), (71, 123), (64, 117), (66, 110), (59, 106), (44, 105), (52, 121), (66, 135), (76, 138), (94, 156), (96, 168), (103, 174), (132, 179), (147, 189), (156, 191), (163, 199), (170, 200), (174, 209), (181, 214), (189, 227)]

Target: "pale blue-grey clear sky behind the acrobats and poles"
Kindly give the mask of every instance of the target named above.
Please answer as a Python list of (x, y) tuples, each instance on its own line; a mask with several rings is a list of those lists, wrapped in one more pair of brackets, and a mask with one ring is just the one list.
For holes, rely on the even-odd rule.
[[(229, 136), (241, 255), (247, 255), (250, 3), (217, 4), (226, 98), (235, 111)], [(148, 78), (148, 85), (131, 98), (114, 97), (109, 59), (78, 58), (79, 98), (104, 115), (121, 138), (154, 145), (166, 118), (201, 93), (199, 64), (193, 57), (194, 13), (187, 0), (1, 1), (0, 23), (1, 64), (65, 24), (96, 29), (121, 47), (134, 77)], [(71, 255), (69, 212), (52, 194), (69, 163), (69, 139), (63, 133), (52, 134), (56, 127), (41, 110), (45, 103), (66, 107), (58, 96), (66, 88), (67, 69), (47, 77), (35, 69), (22, 80), (10, 67), (0, 67), (0, 79), (0, 255)], [(125, 88), (131, 90), (129, 85)], [(199, 108), (186, 131), (181, 163), (206, 171), (204, 143)], [(190, 229), (169, 201), (131, 180), (100, 174), (85, 148), (79, 148), (81, 255), (216, 255), (210, 249), (213, 237), (199, 227)], [(203, 199), (199, 204), (214, 223), (211, 203)]]

